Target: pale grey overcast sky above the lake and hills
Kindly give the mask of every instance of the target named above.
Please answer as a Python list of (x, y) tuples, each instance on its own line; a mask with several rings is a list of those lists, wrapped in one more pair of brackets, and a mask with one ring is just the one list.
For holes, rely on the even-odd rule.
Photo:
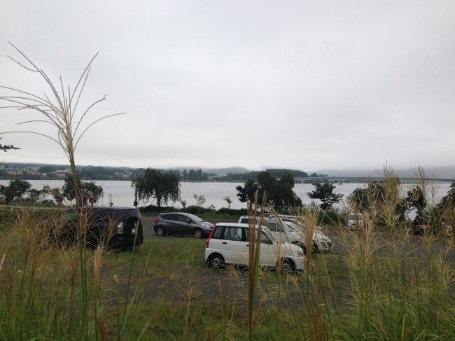
[[(84, 104), (127, 115), (86, 134), (80, 165), (454, 165), (454, 18), (453, 0), (4, 1), (0, 84), (48, 91), (7, 41), (71, 85), (99, 52)], [(37, 136), (1, 142), (21, 148), (3, 162), (67, 163)]]

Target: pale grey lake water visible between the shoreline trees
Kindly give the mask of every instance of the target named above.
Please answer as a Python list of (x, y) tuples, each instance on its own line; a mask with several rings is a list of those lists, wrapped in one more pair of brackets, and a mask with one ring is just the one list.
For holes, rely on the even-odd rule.
[[(43, 185), (48, 185), (51, 188), (62, 187), (63, 180), (29, 180), (31, 186), (36, 189), (43, 188)], [(104, 197), (102, 198), (101, 204), (109, 203), (109, 194), (112, 195), (113, 203), (116, 206), (132, 207), (134, 202), (134, 190), (131, 187), (130, 181), (95, 181), (97, 185), (100, 185), (104, 189)], [(0, 180), (1, 185), (6, 185), (8, 180)], [(204, 195), (206, 202), (204, 206), (213, 204), (217, 209), (221, 207), (228, 207), (228, 204), (223, 200), (223, 197), (230, 197), (232, 200), (232, 209), (241, 209), (246, 207), (244, 203), (239, 202), (237, 199), (236, 186), (243, 186), (243, 183), (233, 182), (182, 182), (181, 183), (181, 198), (186, 200), (188, 205), (195, 204), (193, 194)], [(343, 183), (337, 185), (335, 192), (341, 193), (343, 197), (347, 197), (357, 187), (365, 186), (363, 183)], [(403, 185), (409, 186), (409, 185)], [(438, 184), (437, 197), (443, 197), (447, 194), (450, 183), (442, 182)], [(294, 187), (295, 193), (302, 199), (304, 204), (309, 204), (311, 199), (308, 197), (307, 192), (314, 190), (314, 186), (309, 183), (296, 184)], [(149, 202), (152, 204), (154, 202)], [(172, 203), (169, 203), (172, 204)], [(139, 206), (142, 206), (139, 203)], [(177, 202), (175, 206), (181, 207), (180, 203)]]

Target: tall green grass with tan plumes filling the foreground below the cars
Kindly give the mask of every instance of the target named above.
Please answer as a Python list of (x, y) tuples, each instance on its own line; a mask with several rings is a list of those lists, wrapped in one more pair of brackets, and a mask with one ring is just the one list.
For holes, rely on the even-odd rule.
[[(248, 270), (204, 263), (204, 239), (148, 237), (133, 252), (45, 242), (22, 212), (0, 228), (0, 340), (244, 340)], [(259, 270), (253, 340), (451, 340), (454, 248), (405, 231), (328, 231), (304, 272)], [(86, 309), (85, 317), (81, 309)]]

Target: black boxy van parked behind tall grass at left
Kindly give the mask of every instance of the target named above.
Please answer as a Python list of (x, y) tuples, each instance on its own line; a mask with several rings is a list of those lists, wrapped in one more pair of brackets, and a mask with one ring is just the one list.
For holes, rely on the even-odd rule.
[[(139, 209), (130, 207), (83, 207), (80, 210), (86, 239), (90, 246), (104, 244), (130, 248), (144, 242), (141, 214)], [(62, 214), (63, 230), (59, 237), (64, 242), (76, 240), (76, 209), (67, 209)]]

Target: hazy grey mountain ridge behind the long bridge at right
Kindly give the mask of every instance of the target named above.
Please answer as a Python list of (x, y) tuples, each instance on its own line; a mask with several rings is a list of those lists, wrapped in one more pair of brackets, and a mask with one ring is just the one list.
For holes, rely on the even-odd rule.
[[(428, 178), (432, 179), (455, 179), (455, 166), (442, 167), (421, 167)], [(415, 178), (417, 167), (394, 169), (395, 174), (402, 178)], [(328, 174), (328, 176), (359, 176), (376, 177), (382, 175), (382, 169), (321, 169), (318, 173)]]

